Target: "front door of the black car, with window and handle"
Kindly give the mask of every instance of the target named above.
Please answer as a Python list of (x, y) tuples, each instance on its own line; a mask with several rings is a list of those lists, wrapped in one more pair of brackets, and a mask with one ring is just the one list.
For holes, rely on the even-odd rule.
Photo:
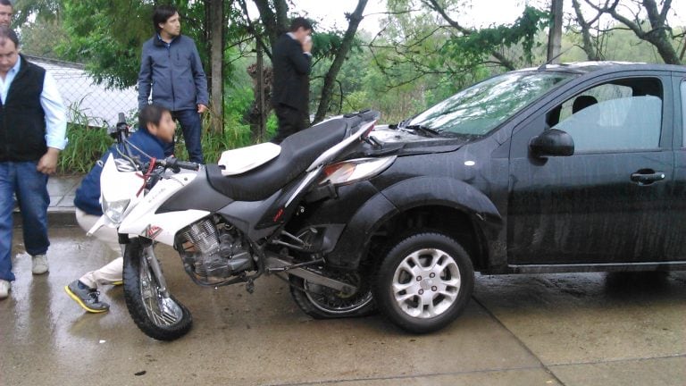
[[(589, 81), (515, 129), (509, 264), (665, 259), (660, 235), (668, 231), (665, 198), (673, 177), (670, 81), (664, 72)], [(571, 135), (573, 155), (531, 155), (531, 138), (548, 129)]]

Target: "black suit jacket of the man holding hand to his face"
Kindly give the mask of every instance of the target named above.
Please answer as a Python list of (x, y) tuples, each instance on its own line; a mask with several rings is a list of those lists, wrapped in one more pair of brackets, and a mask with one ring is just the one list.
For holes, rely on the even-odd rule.
[(309, 75), (312, 58), (289, 34), (283, 34), (272, 52), (274, 86), (272, 105), (289, 105), (306, 112), (309, 100)]

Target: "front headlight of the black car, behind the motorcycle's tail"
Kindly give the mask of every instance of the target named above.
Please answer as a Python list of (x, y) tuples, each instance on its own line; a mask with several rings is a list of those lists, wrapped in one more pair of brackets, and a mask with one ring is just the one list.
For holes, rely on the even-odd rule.
[(324, 168), (324, 178), (320, 184), (347, 185), (360, 180), (368, 180), (385, 171), (396, 160), (396, 156), (383, 158), (357, 158), (330, 164)]

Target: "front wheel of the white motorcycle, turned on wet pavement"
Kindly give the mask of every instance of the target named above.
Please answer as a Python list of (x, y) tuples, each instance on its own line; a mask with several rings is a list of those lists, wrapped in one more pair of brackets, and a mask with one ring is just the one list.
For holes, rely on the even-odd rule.
[[(176, 298), (165, 298), (161, 285), (148, 263), (146, 245), (149, 239), (131, 239), (124, 252), (124, 299), (129, 314), (138, 328), (156, 340), (176, 340), (185, 335), (193, 323), (186, 306)], [(169, 289), (167, 289), (169, 290)]]

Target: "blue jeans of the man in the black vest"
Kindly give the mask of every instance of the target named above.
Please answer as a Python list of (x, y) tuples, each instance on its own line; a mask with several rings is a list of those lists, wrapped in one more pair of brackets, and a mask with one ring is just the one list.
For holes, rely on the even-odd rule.
[(13, 281), (13, 193), (21, 210), (24, 247), (31, 256), (45, 255), (47, 239), (47, 175), (36, 170), (37, 162), (0, 162), (0, 279)]

